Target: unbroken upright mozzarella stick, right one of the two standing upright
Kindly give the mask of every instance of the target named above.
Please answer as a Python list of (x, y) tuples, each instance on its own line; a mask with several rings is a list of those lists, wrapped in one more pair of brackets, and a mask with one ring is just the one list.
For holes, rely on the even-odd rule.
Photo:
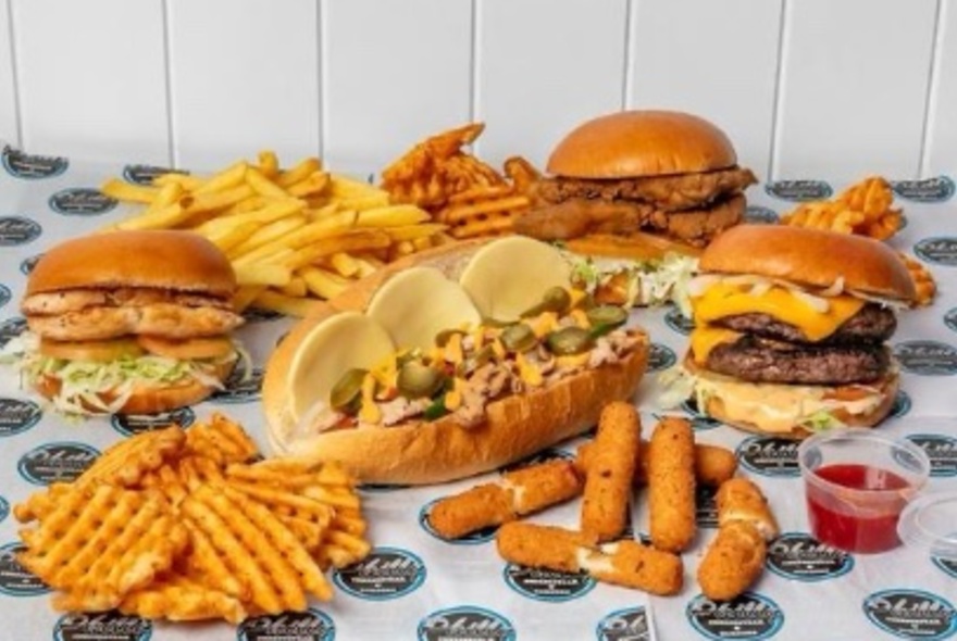
[(683, 418), (662, 418), (648, 443), (651, 544), (681, 552), (695, 537), (695, 440)]

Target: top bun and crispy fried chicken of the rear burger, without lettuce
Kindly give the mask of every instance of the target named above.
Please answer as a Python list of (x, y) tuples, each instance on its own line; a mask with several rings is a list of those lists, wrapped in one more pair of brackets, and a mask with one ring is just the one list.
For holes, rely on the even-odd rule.
[(744, 189), (757, 181), (721, 129), (673, 111), (588, 121), (558, 143), (546, 171), (517, 231), (624, 257), (695, 253), (742, 221)]

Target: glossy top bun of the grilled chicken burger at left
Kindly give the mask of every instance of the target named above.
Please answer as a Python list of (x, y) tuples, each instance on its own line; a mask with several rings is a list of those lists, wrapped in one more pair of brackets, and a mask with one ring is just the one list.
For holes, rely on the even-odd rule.
[(30, 272), (26, 296), (117, 287), (228, 298), (236, 276), (225, 254), (198, 234), (110, 231), (66, 240), (47, 251)]

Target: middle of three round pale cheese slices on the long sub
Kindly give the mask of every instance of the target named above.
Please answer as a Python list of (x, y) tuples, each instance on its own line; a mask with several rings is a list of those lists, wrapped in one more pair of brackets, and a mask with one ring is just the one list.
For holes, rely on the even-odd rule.
[(365, 313), (399, 349), (427, 350), (444, 329), (474, 327), (482, 319), (462, 286), (434, 267), (396, 274), (375, 292)]

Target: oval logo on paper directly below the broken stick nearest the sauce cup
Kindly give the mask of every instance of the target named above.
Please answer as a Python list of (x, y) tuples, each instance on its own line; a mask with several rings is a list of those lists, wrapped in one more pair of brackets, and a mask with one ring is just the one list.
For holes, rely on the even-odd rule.
[(721, 603), (698, 595), (688, 603), (685, 616), (698, 632), (712, 640), (770, 639), (784, 625), (784, 613), (778, 604), (754, 592)]

